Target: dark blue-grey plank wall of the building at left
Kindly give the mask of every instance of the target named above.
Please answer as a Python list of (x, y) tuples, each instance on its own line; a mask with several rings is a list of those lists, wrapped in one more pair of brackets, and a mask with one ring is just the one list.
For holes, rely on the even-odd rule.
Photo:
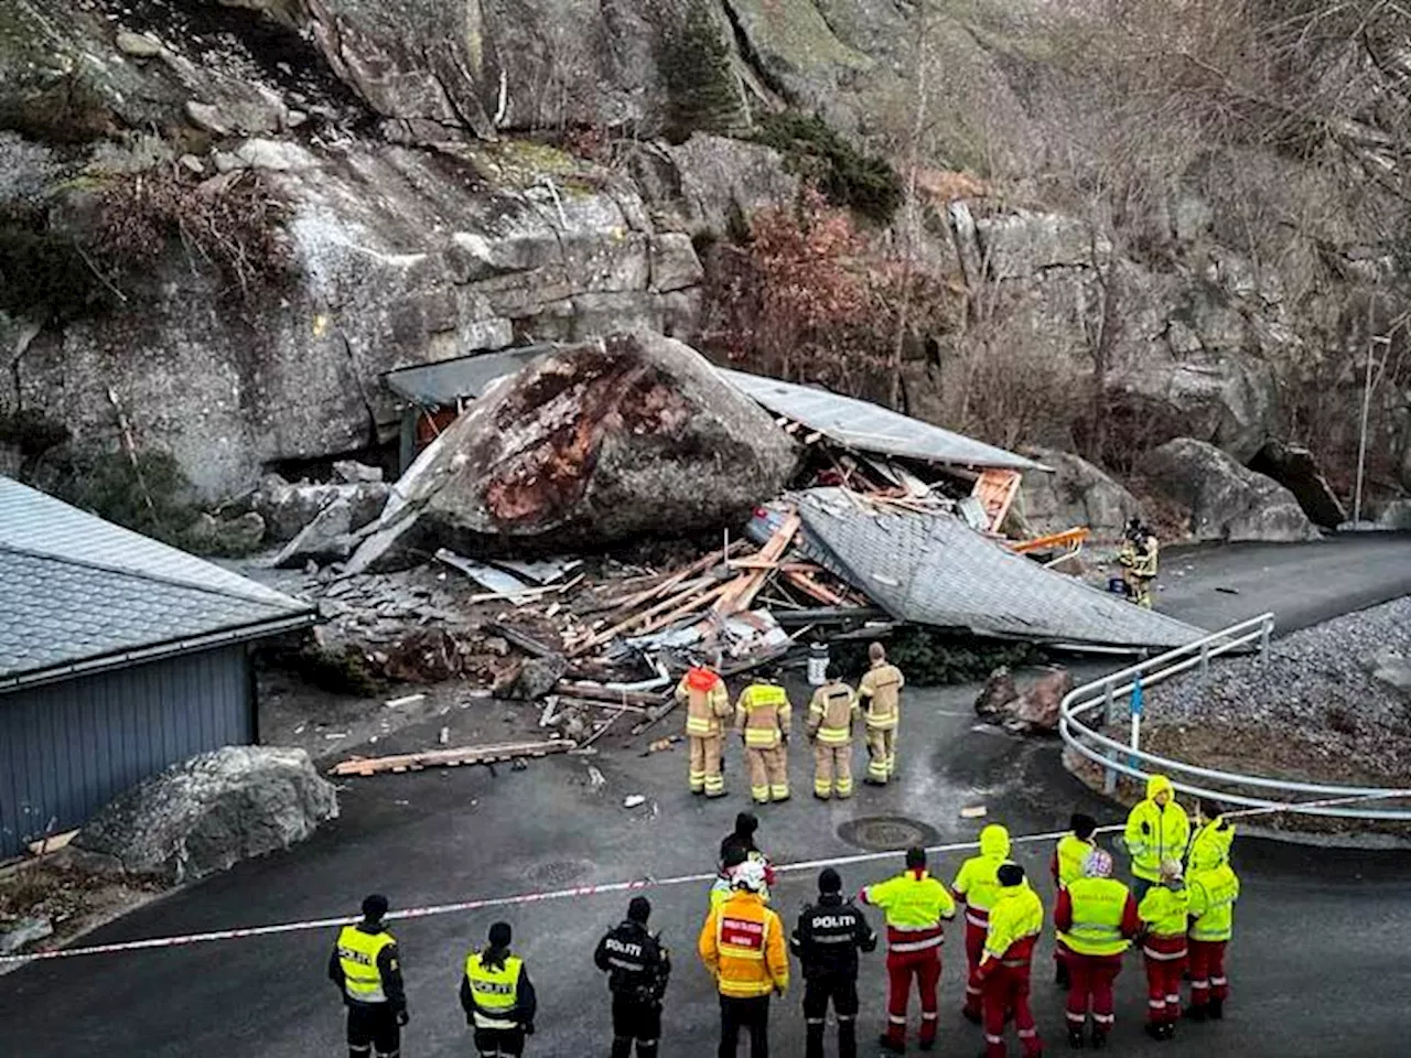
[(243, 645), (0, 695), (0, 856), (168, 765), (254, 741), (250, 695)]

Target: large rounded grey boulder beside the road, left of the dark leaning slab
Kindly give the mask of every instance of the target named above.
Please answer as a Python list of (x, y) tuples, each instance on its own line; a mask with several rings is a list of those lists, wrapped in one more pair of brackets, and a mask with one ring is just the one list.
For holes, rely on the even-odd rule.
[(1189, 512), (1195, 540), (1312, 540), (1318, 530), (1294, 494), (1213, 444), (1177, 437), (1140, 470), (1153, 490)]

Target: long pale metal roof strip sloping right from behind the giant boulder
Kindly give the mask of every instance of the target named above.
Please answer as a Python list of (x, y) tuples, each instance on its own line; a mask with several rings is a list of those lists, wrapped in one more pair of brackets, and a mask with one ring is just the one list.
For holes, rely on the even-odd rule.
[(943, 430), (920, 419), (888, 411), (868, 401), (814, 387), (780, 382), (745, 371), (720, 372), (775, 415), (801, 422), (838, 444), (858, 451), (945, 463), (958, 467), (1044, 470), (1033, 460), (996, 449), (974, 437)]

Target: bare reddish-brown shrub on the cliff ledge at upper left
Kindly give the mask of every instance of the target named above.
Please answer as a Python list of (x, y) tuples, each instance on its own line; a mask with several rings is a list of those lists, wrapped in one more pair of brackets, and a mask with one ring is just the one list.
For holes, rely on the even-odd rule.
[(231, 289), (250, 295), (289, 274), (286, 216), (285, 202), (253, 171), (199, 179), (176, 166), (154, 169), (103, 190), (93, 248), (116, 276), (135, 276), (179, 240)]

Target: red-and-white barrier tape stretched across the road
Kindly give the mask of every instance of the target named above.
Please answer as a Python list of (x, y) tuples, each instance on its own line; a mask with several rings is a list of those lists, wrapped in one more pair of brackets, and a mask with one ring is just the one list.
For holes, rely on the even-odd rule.
[[(1252, 815), (1271, 815), (1291, 808), (1324, 808), (1335, 804), (1350, 804), (1356, 801), (1397, 800), (1411, 797), (1411, 790), (1383, 790), (1374, 794), (1355, 794), (1346, 797), (1328, 797), (1318, 801), (1285, 801), (1266, 808), (1243, 808), (1223, 813), (1223, 818), (1247, 818)], [(1096, 829), (1098, 834), (1120, 832), (1125, 824), (1113, 822)], [(1057, 841), (1068, 831), (1048, 831), (1046, 834), (1024, 834), (1010, 838), (1010, 845), (1029, 845), (1038, 841)], [(941, 852), (964, 852), (979, 848), (978, 841), (955, 841), (944, 845), (930, 845), (926, 852), (935, 855)], [(807, 859), (797, 863), (775, 865), (779, 875), (796, 875), (804, 870), (821, 870), (823, 868), (840, 868), (855, 863), (875, 863), (882, 859), (896, 859), (897, 851), (890, 852), (859, 852), (851, 856), (828, 856), (824, 859)], [(443, 914), (463, 914), (466, 911), (483, 911), (488, 907), (521, 907), (523, 904), (538, 904), (549, 900), (573, 900), (607, 893), (628, 893), (636, 889), (666, 889), (669, 886), (697, 884), (714, 882), (717, 873), (703, 872), (698, 875), (674, 875), (670, 877), (653, 879), (641, 877), (631, 882), (604, 882), (593, 886), (574, 886), (571, 889), (550, 889), (538, 893), (519, 893), (516, 896), (483, 897), (480, 900), (457, 900), (449, 904), (426, 904), (423, 907), (408, 907), (391, 911), (388, 921), (402, 921), (409, 918), (429, 918)], [(55, 948), (52, 951), (31, 952), (28, 955), (0, 955), (0, 966), (24, 962), (40, 962), (44, 959), (76, 959), (87, 955), (111, 955), (116, 952), (147, 951), (152, 948), (183, 948), (192, 944), (210, 944), (214, 941), (240, 941), (250, 937), (272, 937), (285, 932), (306, 932), (309, 930), (330, 930), (336, 925), (353, 925), (360, 923), (361, 916), (343, 916), (339, 918), (306, 918), (293, 923), (278, 923), (274, 925), (250, 925), (236, 930), (212, 930), (210, 932), (181, 934), (176, 937), (148, 937), (140, 941), (121, 941), (117, 944), (90, 944), (80, 948)]]

